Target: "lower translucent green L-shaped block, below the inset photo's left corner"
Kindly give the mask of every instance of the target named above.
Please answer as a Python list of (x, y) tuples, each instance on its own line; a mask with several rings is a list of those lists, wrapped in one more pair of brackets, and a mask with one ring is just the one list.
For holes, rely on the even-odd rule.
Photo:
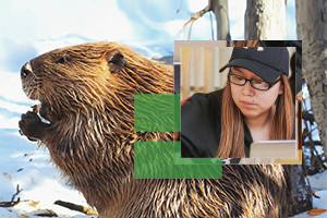
[[(221, 179), (222, 167), (218, 158), (181, 158), (174, 150), (180, 142), (135, 142), (134, 179)], [(199, 162), (198, 159), (202, 159)], [(206, 160), (205, 160), (206, 159)], [(210, 159), (216, 159), (215, 164)], [(174, 165), (181, 162), (181, 165)]]

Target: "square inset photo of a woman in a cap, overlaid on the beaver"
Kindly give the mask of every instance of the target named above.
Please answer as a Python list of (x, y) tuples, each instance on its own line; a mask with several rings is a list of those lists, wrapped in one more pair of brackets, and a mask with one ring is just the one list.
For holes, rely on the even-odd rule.
[(301, 164), (301, 104), (294, 100), (298, 78), (291, 64), (296, 48), (254, 40), (226, 45), (175, 41), (181, 157)]

